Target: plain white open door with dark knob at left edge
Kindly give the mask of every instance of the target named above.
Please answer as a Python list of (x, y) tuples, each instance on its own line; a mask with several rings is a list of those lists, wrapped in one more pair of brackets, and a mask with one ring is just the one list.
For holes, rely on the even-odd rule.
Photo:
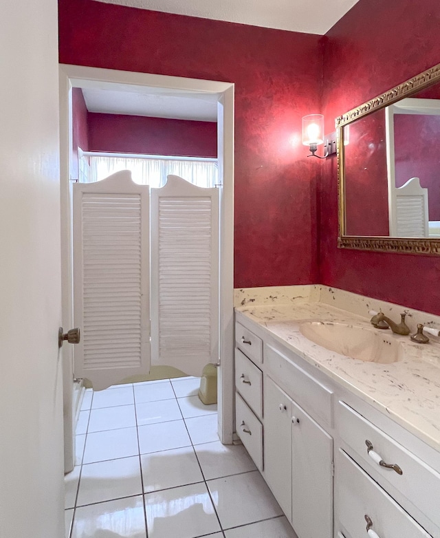
[(56, 0), (3, 0), (0, 43), (0, 536), (61, 538)]

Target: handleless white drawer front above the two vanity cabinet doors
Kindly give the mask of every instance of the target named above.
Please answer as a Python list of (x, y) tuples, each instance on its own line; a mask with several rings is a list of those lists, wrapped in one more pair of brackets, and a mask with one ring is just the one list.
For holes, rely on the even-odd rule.
[(267, 372), (276, 383), (313, 418), (333, 425), (333, 391), (272, 346), (265, 344), (264, 361)]

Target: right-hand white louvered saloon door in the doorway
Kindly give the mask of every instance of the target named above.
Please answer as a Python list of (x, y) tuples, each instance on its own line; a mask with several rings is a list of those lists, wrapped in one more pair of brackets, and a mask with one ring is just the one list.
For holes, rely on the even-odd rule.
[(151, 189), (152, 364), (200, 376), (218, 361), (219, 191), (168, 175)]

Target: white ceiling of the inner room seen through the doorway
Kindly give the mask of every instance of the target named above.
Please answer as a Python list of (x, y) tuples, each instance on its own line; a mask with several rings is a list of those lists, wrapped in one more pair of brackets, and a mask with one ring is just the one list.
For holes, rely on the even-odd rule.
[(161, 89), (155, 88), (144, 88), (144, 92), (83, 88), (85, 104), (89, 112), (176, 120), (217, 121), (217, 96), (215, 95), (203, 97), (188, 93), (166, 95)]

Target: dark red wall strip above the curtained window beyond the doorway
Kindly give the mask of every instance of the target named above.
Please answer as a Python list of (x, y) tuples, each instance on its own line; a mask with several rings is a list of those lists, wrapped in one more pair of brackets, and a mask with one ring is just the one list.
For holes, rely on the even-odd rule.
[(217, 157), (217, 123), (89, 112), (89, 150)]

